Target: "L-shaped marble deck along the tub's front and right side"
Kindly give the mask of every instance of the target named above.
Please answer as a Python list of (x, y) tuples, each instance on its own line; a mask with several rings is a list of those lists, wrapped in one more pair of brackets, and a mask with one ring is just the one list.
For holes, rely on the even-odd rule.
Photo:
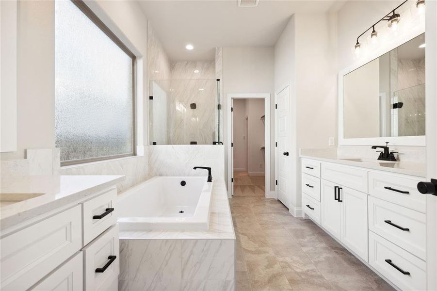
[(119, 237), (120, 240), (235, 240), (225, 180), (214, 180), (208, 231), (120, 231)]

